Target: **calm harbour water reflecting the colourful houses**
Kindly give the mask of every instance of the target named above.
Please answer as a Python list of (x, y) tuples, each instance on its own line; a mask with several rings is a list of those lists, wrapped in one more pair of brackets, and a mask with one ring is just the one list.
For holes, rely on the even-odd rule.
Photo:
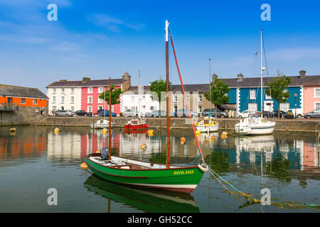
[[(268, 188), (277, 205), (235, 199), (206, 172), (191, 194), (124, 187), (106, 182), (80, 164), (85, 155), (108, 146), (108, 134), (87, 127), (17, 126), (0, 128), (0, 212), (319, 212), (319, 150), (313, 133), (198, 138), (206, 163), (242, 192), (260, 199)], [(213, 138), (214, 136), (214, 138)], [(186, 143), (181, 144), (181, 137)], [(146, 144), (146, 150), (140, 145)], [(112, 130), (112, 153), (139, 160), (166, 160), (166, 131), (127, 133)], [(191, 130), (171, 130), (171, 163), (197, 157)], [(58, 205), (48, 205), (48, 189)], [(242, 201), (245, 199), (242, 197)], [(283, 206), (281, 204), (295, 204)]]

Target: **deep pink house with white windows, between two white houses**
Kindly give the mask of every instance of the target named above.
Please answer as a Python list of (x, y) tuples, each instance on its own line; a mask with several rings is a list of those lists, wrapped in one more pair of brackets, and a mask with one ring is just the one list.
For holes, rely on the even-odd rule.
[[(92, 114), (97, 113), (100, 109), (109, 110), (109, 105), (104, 99), (99, 99), (102, 92), (109, 91), (109, 79), (90, 79), (88, 77), (83, 77), (81, 86), (81, 109), (83, 111), (90, 112)], [(111, 84), (114, 84), (115, 89), (126, 90), (131, 86), (131, 76), (124, 72), (122, 79), (111, 79)], [(112, 105), (112, 113), (119, 116), (121, 111), (121, 99), (120, 104)]]

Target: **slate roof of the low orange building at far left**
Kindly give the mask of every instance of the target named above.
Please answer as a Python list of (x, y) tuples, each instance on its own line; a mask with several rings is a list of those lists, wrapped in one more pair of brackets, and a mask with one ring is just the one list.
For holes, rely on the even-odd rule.
[(26, 98), (48, 99), (39, 89), (0, 84), (0, 96), (18, 96)]

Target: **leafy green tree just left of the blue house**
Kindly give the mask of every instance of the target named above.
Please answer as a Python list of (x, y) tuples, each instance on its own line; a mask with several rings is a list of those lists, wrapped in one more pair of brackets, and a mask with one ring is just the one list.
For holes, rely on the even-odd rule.
[(230, 97), (227, 95), (230, 91), (229, 84), (225, 83), (225, 79), (218, 79), (215, 77), (215, 80), (210, 83), (211, 97), (210, 92), (203, 92), (207, 100), (210, 100), (215, 104), (215, 117), (217, 117), (217, 106), (222, 104), (227, 104), (230, 100)]

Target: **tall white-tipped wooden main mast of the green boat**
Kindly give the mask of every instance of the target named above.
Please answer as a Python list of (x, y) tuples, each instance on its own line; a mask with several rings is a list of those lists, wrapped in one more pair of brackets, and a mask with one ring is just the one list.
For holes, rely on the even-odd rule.
[[(169, 114), (169, 22), (166, 20), (166, 167), (170, 168), (170, 114)], [(159, 97), (160, 99), (160, 97)]]

